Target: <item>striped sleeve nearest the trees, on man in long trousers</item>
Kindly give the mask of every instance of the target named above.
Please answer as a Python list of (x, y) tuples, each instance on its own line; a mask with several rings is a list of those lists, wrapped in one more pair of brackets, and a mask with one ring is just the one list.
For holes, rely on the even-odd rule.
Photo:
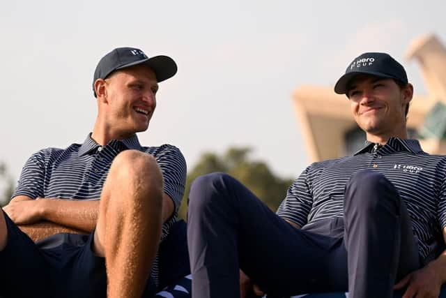
[(278, 216), (292, 221), (300, 227), (307, 223), (308, 214), (313, 204), (312, 191), (307, 181), (310, 169), (311, 166), (307, 167), (298, 179), (295, 179), (286, 192), (286, 198), (277, 209)]

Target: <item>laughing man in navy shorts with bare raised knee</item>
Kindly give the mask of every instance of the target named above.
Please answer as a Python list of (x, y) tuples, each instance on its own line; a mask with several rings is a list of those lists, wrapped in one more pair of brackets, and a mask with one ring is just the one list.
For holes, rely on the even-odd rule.
[(170, 57), (132, 47), (99, 61), (92, 133), (33, 154), (0, 214), (0, 296), (153, 297), (187, 274), (185, 232), (172, 239), (183, 154), (142, 147), (136, 135), (148, 128), (158, 83), (176, 70)]

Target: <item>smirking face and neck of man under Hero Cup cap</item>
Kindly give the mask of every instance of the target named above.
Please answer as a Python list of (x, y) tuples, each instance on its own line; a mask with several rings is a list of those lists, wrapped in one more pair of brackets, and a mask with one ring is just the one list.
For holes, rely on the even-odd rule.
[(406, 105), (413, 87), (399, 87), (393, 79), (358, 75), (348, 84), (351, 112), (371, 142), (386, 142), (389, 137), (406, 138)]

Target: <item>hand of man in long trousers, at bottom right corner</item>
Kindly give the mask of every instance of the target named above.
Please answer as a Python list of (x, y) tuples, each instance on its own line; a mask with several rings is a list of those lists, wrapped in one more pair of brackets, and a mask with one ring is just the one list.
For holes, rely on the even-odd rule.
[(394, 286), (394, 290), (399, 290), (407, 285), (406, 292), (401, 298), (438, 298), (441, 284), (436, 268), (429, 264), (401, 279)]

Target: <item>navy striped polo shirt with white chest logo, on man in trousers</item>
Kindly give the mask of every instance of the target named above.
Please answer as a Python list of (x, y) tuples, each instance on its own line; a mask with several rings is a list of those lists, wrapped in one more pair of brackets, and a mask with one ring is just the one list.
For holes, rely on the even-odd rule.
[(309, 165), (290, 186), (277, 214), (301, 227), (342, 217), (346, 183), (362, 169), (380, 172), (397, 188), (420, 257), (425, 263), (436, 258), (446, 227), (446, 156), (427, 154), (417, 140), (391, 137), (378, 150), (369, 143), (353, 156)]

